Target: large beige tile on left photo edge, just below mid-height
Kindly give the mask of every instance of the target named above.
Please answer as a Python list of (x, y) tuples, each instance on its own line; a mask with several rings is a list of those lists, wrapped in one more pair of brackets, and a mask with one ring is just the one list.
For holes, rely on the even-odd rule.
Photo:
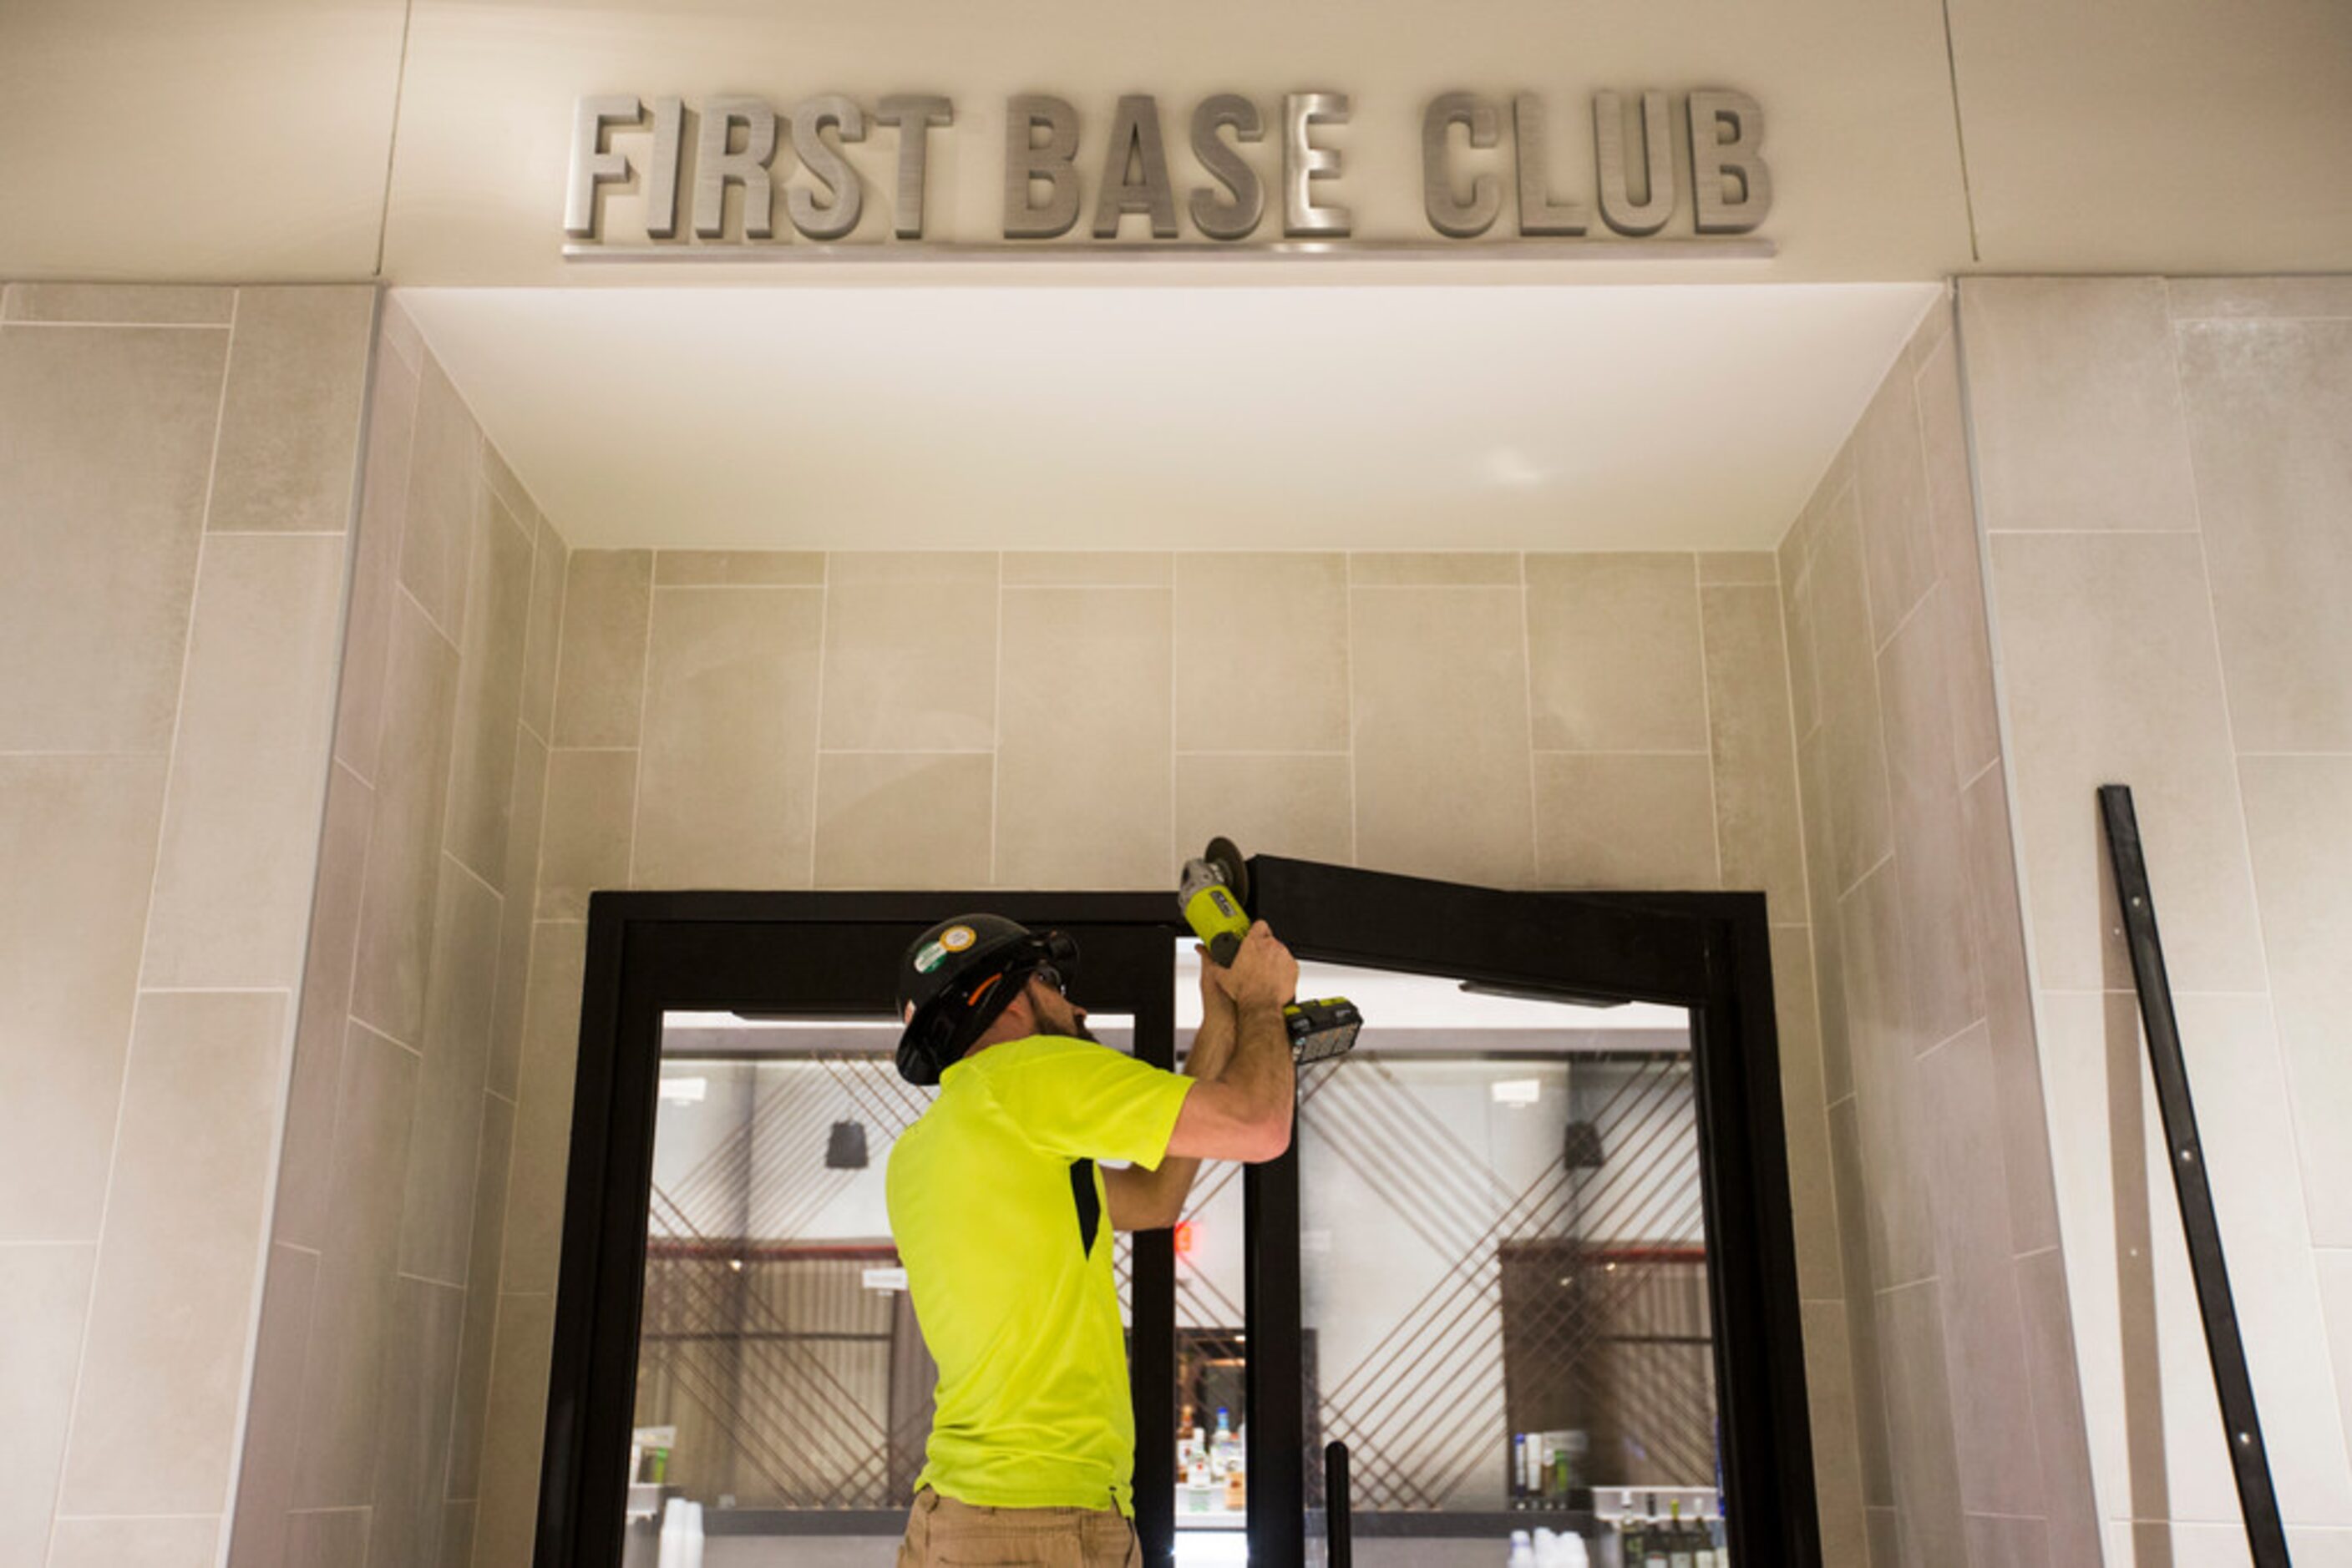
[(96, 1241), (162, 757), (0, 757), (0, 1241)]

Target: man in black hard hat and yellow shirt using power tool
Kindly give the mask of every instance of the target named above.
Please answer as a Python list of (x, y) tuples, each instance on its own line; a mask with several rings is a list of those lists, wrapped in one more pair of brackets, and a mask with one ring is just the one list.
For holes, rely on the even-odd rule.
[(1265, 922), (1232, 966), (1202, 964), (1185, 1074), (1098, 1044), (1068, 997), (1075, 964), (1058, 931), (964, 914), (898, 966), (898, 1072), (938, 1084), (889, 1157), (891, 1234), (938, 1361), (898, 1568), (1143, 1563), (1108, 1232), (1174, 1225), (1202, 1159), (1291, 1143), (1298, 964)]

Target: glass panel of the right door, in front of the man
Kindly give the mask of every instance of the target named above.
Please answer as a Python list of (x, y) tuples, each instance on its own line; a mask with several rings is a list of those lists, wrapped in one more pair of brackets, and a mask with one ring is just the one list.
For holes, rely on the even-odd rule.
[(1430, 1561), (1592, 1537), (1595, 1488), (1712, 1516), (1689, 1016), (1317, 964), (1301, 992), (1367, 1020), (1301, 1074), (1310, 1509), (1341, 1439), (1357, 1535)]

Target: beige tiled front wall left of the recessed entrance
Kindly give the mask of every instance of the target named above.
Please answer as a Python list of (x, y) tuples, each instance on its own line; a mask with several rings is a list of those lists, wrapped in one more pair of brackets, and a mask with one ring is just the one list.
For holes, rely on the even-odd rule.
[(372, 313), (0, 289), (0, 1563), (219, 1561)]

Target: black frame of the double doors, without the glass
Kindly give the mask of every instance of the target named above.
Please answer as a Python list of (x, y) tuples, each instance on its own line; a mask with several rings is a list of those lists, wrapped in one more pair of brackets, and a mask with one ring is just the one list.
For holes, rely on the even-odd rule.
[[(1301, 957), (1691, 1011), (1700, 1192), (1715, 1295), (1717, 1410), (1740, 1561), (1820, 1561), (1795, 1225), (1762, 893), (1508, 893), (1308, 860), (1251, 860), (1254, 903)], [(1167, 893), (595, 893), (588, 903), (562, 1262), (539, 1472), (536, 1568), (619, 1568), (647, 1258), (661, 1016), (673, 1009), (870, 1013), (889, 971), (851, 961), (891, 929), (997, 910), (1087, 929), (1089, 973), (1162, 954)], [(1155, 999), (1157, 994), (1157, 999)], [(1174, 983), (1136, 994), (1136, 1053), (1174, 1065)], [(1108, 1011), (1108, 1009), (1105, 1009)], [(1376, 1023), (1376, 1020), (1374, 1020)], [(1305, 1552), (1296, 1150), (1244, 1173), (1249, 1229), (1249, 1542)], [(1134, 1239), (1136, 1474), (1174, 1474), (1174, 1241)], [(1287, 1326), (1287, 1333), (1277, 1331)], [(1263, 1361), (1263, 1363), (1261, 1363)], [(1174, 1490), (1136, 1488), (1148, 1547), (1174, 1540)]]

